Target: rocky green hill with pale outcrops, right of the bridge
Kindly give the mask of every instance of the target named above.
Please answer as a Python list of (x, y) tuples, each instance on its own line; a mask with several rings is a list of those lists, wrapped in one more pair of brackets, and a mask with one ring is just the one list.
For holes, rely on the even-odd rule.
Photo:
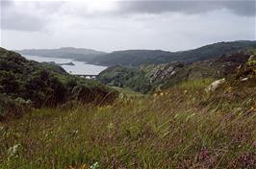
[[(255, 48), (256, 49), (256, 48)], [(250, 51), (225, 54), (216, 59), (185, 63), (173, 61), (163, 64), (144, 64), (140, 67), (113, 66), (102, 71), (98, 80), (103, 84), (128, 87), (142, 93), (156, 88), (197, 79), (220, 79), (233, 76), (237, 67), (244, 66)]]

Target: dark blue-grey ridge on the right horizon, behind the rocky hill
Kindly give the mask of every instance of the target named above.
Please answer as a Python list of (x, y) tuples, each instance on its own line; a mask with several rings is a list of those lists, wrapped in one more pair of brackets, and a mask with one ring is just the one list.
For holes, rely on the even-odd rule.
[(90, 60), (100, 65), (139, 66), (141, 64), (159, 64), (170, 61), (193, 62), (217, 58), (226, 53), (247, 50), (256, 46), (256, 41), (218, 42), (194, 50), (167, 52), (161, 50), (125, 50), (115, 51)]

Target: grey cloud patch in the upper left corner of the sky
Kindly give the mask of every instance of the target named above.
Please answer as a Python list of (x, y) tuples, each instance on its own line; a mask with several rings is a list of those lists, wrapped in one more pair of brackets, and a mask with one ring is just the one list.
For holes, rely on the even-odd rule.
[(56, 2), (1, 1), (1, 29), (39, 31), (47, 25), (59, 5)]

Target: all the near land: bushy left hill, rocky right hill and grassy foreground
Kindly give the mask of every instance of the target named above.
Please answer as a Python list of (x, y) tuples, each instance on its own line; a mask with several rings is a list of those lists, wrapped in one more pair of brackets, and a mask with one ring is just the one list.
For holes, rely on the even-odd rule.
[(0, 168), (256, 167), (256, 51), (105, 73), (166, 86), (117, 95), (0, 48)]

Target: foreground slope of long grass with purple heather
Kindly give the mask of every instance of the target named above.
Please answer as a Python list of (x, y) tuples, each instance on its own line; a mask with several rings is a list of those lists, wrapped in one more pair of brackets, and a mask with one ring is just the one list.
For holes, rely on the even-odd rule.
[[(255, 78), (206, 95), (211, 82), (123, 96), (101, 108), (35, 110), (1, 124), (0, 168), (255, 167)], [(12, 154), (13, 145), (20, 146)]]

